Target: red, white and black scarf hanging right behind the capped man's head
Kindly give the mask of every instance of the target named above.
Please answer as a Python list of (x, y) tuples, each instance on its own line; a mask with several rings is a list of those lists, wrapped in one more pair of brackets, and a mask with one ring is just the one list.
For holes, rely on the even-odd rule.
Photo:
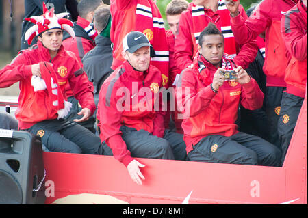
[(155, 50), (151, 64), (162, 72), (163, 85), (168, 84), (169, 49), (162, 15), (153, 0), (139, 0), (136, 8), (135, 31), (146, 35)]

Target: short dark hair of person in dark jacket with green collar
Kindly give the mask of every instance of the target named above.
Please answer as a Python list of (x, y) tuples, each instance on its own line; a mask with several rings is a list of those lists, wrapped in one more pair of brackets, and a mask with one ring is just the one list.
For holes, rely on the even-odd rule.
[(99, 33), (107, 26), (110, 16), (110, 5), (100, 5), (94, 11), (95, 27)]

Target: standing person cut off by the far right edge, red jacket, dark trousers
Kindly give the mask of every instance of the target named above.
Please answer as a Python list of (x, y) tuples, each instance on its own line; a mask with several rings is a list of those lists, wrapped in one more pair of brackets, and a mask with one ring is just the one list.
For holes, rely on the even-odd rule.
[(298, 114), (303, 105), (307, 83), (307, 0), (298, 1), (297, 5), (283, 15), (281, 34), (291, 61), (285, 70), (287, 90), (281, 100), (278, 122), (278, 134), (283, 152), (282, 163), (287, 153)]

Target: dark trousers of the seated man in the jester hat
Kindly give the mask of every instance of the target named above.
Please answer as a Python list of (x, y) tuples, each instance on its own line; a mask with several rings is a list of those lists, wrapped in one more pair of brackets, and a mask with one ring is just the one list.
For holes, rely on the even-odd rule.
[(68, 120), (44, 120), (27, 129), (40, 135), (51, 152), (102, 154), (101, 139), (83, 126)]

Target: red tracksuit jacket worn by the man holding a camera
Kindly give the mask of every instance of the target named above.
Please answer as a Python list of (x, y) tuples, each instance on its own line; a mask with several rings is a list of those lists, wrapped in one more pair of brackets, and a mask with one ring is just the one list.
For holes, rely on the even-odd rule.
[[(231, 136), (238, 133), (235, 121), (238, 118), (239, 104), (246, 109), (255, 110), (262, 107), (264, 99), (263, 92), (253, 78), (243, 85), (224, 81), (215, 94), (210, 84), (217, 68), (198, 53), (196, 57), (194, 67), (181, 72), (176, 90), (177, 103), (185, 108), (182, 128), (187, 153), (207, 135)], [(225, 60), (230, 62), (228, 59)], [(199, 63), (205, 65), (205, 70), (201, 73)]]

